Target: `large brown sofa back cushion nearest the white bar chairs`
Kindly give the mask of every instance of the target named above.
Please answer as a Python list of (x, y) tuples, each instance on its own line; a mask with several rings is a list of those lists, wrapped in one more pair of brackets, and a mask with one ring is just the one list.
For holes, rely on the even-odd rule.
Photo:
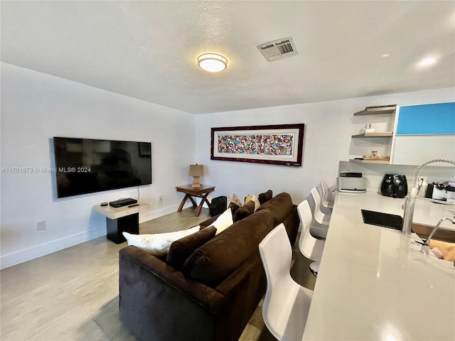
[(267, 210), (235, 222), (196, 249), (183, 264), (183, 274), (215, 286), (253, 253), (259, 253), (259, 242), (272, 230), (273, 222), (273, 216)]

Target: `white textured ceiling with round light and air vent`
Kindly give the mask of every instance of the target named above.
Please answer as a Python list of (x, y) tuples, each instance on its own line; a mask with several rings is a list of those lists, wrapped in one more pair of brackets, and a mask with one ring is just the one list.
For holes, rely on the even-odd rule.
[(1, 1), (1, 60), (194, 114), (454, 87), (455, 1)]

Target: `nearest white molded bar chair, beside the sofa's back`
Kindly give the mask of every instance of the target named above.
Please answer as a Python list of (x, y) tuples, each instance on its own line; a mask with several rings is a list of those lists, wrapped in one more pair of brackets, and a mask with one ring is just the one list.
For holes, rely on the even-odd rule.
[(259, 254), (267, 276), (264, 323), (278, 340), (301, 340), (313, 292), (291, 278), (292, 249), (284, 224), (262, 239)]

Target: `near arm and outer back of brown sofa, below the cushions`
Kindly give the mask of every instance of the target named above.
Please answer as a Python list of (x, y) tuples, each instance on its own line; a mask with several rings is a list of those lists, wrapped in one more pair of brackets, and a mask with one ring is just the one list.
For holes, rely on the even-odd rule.
[(253, 256), (210, 288), (125, 247), (119, 251), (120, 319), (138, 340), (238, 340), (265, 292), (264, 270)]

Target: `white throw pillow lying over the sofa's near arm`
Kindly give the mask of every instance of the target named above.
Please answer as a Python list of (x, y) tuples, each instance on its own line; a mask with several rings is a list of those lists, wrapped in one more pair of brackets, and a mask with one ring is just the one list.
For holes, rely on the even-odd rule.
[(128, 245), (133, 245), (144, 251), (150, 252), (156, 256), (162, 256), (169, 251), (172, 242), (181, 239), (190, 234), (198, 232), (200, 226), (183, 229), (176, 232), (155, 233), (155, 234), (130, 234), (122, 232), (127, 239)]

